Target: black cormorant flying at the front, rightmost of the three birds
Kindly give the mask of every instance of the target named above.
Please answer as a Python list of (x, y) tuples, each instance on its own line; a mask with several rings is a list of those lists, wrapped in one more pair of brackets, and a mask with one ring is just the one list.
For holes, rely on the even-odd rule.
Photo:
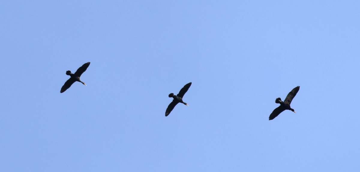
[(300, 86), (295, 87), (293, 90), (291, 90), (286, 96), (284, 101), (281, 101), (280, 97), (276, 98), (275, 103), (279, 103), (280, 106), (274, 109), (273, 113), (270, 114), (269, 120), (274, 119), (276, 116), (278, 116), (280, 113), (282, 113), (284, 110), (291, 110), (295, 113), (294, 109), (290, 107), (292, 99), (296, 96), (296, 93), (299, 91)]

